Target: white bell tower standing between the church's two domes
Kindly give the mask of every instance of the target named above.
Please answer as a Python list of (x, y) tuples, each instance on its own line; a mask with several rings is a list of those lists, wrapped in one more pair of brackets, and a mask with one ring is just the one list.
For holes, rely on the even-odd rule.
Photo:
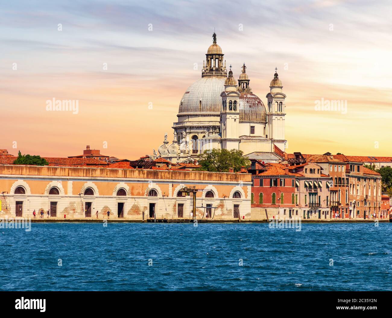
[(223, 149), (239, 149), (240, 96), (241, 94), (237, 92), (237, 82), (233, 77), (230, 66), (229, 76), (225, 80), (225, 90), (221, 93), (222, 108), (220, 125)]

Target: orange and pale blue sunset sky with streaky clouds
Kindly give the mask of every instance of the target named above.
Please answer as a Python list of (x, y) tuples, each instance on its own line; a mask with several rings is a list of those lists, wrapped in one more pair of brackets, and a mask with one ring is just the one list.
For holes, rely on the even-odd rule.
[[(215, 28), (234, 77), (245, 62), (265, 105), (278, 68), (287, 152), (392, 156), (391, 14), (383, 0), (2, 2), (0, 148), (152, 154), (172, 140)], [(78, 114), (47, 111), (53, 98), (78, 100)], [(347, 113), (316, 111), (321, 98), (347, 101)]]

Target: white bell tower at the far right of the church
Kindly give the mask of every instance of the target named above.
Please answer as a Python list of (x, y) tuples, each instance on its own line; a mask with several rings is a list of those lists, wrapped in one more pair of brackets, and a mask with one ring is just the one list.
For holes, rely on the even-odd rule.
[(280, 150), (285, 151), (287, 140), (285, 140), (285, 98), (282, 92), (282, 82), (279, 79), (277, 68), (275, 68), (274, 78), (270, 83), (270, 92), (266, 98), (268, 138), (276, 144)]

